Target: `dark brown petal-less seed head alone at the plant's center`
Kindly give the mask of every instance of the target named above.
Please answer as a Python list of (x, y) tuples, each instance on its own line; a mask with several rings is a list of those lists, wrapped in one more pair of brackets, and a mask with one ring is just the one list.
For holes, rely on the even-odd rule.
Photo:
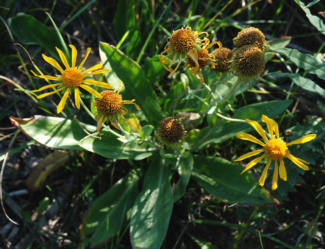
[(161, 144), (172, 147), (185, 139), (184, 125), (178, 119), (172, 117), (164, 118), (160, 122), (157, 137)]

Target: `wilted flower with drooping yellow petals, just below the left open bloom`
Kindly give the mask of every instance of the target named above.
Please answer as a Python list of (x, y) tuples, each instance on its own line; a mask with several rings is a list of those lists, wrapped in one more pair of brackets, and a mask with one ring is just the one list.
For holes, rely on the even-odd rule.
[[(100, 98), (96, 99), (94, 102), (94, 106), (97, 108), (97, 112), (95, 113), (95, 119), (97, 121), (97, 131), (99, 133), (100, 128), (104, 125), (107, 118), (109, 122), (116, 128), (120, 129), (117, 124), (126, 119), (123, 115), (126, 115), (127, 109), (123, 107), (124, 104), (133, 104), (138, 110), (140, 107), (133, 103), (133, 100), (122, 100), (122, 96), (119, 95), (121, 89), (123, 88), (122, 81), (120, 80), (120, 86), (116, 88), (114, 91), (105, 90), (100, 93)], [(113, 119), (119, 117), (114, 122)]]

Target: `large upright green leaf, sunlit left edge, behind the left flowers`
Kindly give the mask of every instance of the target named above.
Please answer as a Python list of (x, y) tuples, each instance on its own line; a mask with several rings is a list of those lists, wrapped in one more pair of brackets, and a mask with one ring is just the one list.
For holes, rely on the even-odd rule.
[(103, 42), (100, 42), (100, 57), (104, 68), (112, 70), (112, 73), (108, 72), (108, 79), (116, 81), (119, 78), (123, 81), (125, 86), (123, 99), (135, 99), (135, 103), (141, 107), (149, 123), (159, 124), (162, 120), (162, 108), (139, 64), (115, 47)]

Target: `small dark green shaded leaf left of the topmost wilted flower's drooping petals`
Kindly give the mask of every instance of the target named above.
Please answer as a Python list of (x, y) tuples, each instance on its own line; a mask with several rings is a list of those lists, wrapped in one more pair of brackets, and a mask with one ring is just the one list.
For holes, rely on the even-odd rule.
[(155, 55), (151, 58), (147, 57), (144, 61), (144, 73), (148, 82), (151, 84), (160, 81), (164, 75), (167, 74), (167, 70), (164, 69), (159, 59), (160, 55)]

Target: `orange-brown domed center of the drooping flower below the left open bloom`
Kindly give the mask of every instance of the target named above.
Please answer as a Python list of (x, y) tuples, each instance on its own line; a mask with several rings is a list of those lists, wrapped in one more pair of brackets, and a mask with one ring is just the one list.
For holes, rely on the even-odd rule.
[(122, 96), (112, 90), (105, 90), (100, 93), (102, 98), (96, 99), (94, 106), (97, 110), (105, 115), (114, 115), (118, 113), (122, 107)]

